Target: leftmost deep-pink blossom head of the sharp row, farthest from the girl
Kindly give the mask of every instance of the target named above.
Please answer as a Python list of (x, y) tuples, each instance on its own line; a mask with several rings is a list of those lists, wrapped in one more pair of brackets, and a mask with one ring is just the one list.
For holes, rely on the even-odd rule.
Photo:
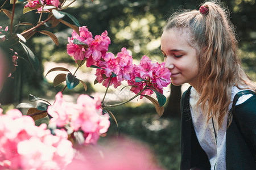
[[(78, 40), (84, 44), (76, 44), (74, 40)], [(97, 65), (101, 58), (104, 58), (110, 44), (108, 32), (105, 31), (101, 35), (96, 35), (93, 39), (92, 33), (88, 31), (86, 26), (79, 27), (79, 34), (73, 30), (72, 37), (68, 37), (67, 53), (74, 57), (75, 60), (83, 60), (87, 58), (86, 66)]]

